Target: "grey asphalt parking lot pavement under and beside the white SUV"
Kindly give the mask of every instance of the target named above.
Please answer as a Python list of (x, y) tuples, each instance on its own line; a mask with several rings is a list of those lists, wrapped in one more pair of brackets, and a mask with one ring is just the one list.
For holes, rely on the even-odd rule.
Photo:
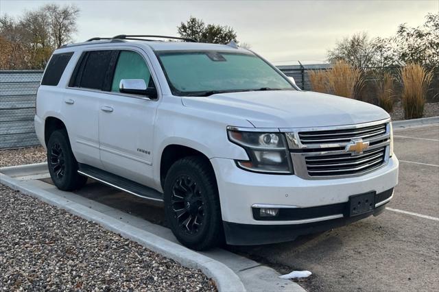
[[(439, 127), (395, 130), (399, 185), (388, 210), (294, 242), (226, 247), (281, 273), (306, 269), (309, 291), (433, 291), (439, 287)], [(45, 179), (50, 182), (49, 179)], [(163, 209), (90, 182), (78, 194), (165, 225)]]

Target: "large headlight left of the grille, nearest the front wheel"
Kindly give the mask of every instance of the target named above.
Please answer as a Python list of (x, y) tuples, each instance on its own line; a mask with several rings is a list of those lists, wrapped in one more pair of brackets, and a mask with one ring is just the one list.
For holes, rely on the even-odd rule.
[(244, 147), (250, 160), (237, 160), (238, 167), (261, 173), (293, 173), (287, 141), (281, 133), (227, 130), (231, 142)]

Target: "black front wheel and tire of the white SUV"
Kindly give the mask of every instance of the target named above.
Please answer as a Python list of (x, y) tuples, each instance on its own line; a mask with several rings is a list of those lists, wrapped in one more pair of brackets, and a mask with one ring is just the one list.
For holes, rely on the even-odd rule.
[(193, 250), (223, 243), (218, 188), (209, 161), (189, 156), (171, 166), (165, 179), (165, 215), (178, 241)]

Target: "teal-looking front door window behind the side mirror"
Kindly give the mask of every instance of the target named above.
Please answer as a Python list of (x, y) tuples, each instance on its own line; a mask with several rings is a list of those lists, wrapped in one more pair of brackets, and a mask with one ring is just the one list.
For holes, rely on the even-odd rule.
[(119, 93), (119, 83), (122, 79), (143, 79), (148, 87), (154, 87), (150, 69), (142, 56), (134, 51), (121, 51), (119, 53), (111, 91)]

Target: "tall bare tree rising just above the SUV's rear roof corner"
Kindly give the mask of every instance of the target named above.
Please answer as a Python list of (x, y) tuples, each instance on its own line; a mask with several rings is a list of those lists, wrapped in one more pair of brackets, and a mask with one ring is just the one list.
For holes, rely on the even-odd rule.
[(43, 8), (49, 16), (50, 34), (56, 48), (72, 40), (72, 35), (77, 32), (76, 19), (80, 10), (75, 5), (60, 7), (57, 4), (47, 4)]

